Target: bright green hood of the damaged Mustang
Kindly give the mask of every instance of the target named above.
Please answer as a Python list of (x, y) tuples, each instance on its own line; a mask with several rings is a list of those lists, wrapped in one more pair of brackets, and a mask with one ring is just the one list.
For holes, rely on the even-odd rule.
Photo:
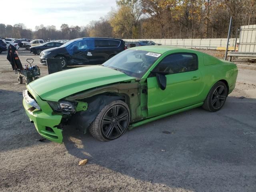
[(132, 79), (135, 78), (104, 66), (86, 66), (44, 76), (27, 88), (43, 100), (58, 101), (77, 92)]

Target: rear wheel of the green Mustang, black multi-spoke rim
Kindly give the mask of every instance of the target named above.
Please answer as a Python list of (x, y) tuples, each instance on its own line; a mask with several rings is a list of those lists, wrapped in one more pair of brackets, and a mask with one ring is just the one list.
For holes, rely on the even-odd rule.
[(226, 84), (219, 81), (209, 91), (202, 107), (210, 112), (216, 112), (224, 106), (227, 96)]

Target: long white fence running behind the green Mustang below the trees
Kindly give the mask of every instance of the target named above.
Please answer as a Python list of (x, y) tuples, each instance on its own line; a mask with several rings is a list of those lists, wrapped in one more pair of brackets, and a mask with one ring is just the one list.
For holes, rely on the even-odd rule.
[[(162, 45), (180, 46), (186, 48), (204, 48), (216, 49), (217, 47), (226, 47), (226, 38), (216, 39), (124, 39), (125, 41), (149, 40)], [(238, 40), (239, 41), (239, 40)], [(229, 40), (229, 46), (234, 47), (235, 38)]]

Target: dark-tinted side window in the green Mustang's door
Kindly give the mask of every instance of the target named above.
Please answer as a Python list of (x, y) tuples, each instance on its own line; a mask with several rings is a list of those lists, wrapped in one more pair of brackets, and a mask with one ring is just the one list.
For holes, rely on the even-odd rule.
[(196, 54), (178, 53), (166, 56), (154, 69), (156, 72), (175, 74), (195, 71), (198, 69), (198, 58)]

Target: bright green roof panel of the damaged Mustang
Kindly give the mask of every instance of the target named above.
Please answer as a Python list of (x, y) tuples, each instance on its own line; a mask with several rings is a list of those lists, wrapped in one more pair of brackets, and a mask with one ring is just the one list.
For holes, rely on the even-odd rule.
[[(150, 46), (139, 46), (139, 47), (132, 47), (129, 49), (136, 49), (136, 50), (144, 50), (148, 52), (156, 52), (160, 54), (164, 54), (167, 51), (172, 51), (172, 50), (179, 50), (179, 51), (188, 51), (191, 49), (188, 48), (182, 48), (182, 47), (176, 47), (176, 46), (168, 46), (168, 45), (150, 45)], [(193, 50), (194, 52), (194, 50)]]

